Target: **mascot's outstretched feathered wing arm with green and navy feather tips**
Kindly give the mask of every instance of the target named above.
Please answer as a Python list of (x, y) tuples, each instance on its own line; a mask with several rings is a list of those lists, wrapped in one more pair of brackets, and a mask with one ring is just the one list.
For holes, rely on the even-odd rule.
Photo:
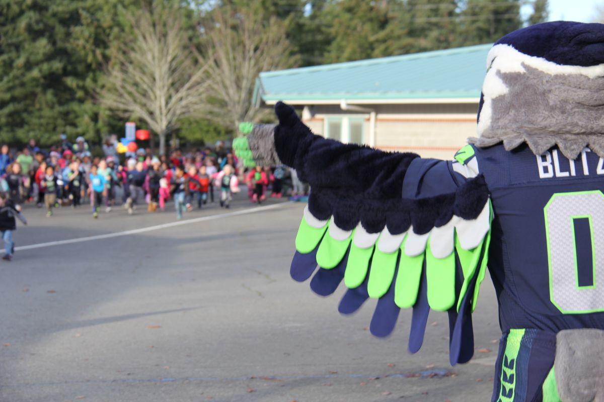
[(283, 163), (310, 184), (292, 278), (312, 277), (310, 288), (323, 296), (343, 280), (344, 314), (377, 299), (375, 336), (390, 334), (399, 310), (413, 308), (411, 353), (422, 345), (429, 310), (446, 311), (451, 363), (471, 359), (471, 313), (492, 221), (473, 148), (462, 148), (454, 162), (420, 159), (324, 139), (288, 105), (279, 102), (275, 111), (278, 125), (249, 127), (234, 148), (247, 166)]

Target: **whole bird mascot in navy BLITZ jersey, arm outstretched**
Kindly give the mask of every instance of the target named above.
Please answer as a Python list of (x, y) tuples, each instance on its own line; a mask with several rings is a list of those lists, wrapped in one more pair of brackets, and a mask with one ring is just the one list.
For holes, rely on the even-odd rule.
[(451, 161), (312, 134), (293, 108), (246, 126), (248, 166), (284, 165), (311, 186), (291, 275), (339, 311), (376, 298), (387, 336), (413, 308), (449, 316), (449, 359), (474, 353), (471, 313), (487, 266), (503, 332), (492, 401), (604, 401), (604, 25), (551, 22), (487, 58), (478, 137)]

